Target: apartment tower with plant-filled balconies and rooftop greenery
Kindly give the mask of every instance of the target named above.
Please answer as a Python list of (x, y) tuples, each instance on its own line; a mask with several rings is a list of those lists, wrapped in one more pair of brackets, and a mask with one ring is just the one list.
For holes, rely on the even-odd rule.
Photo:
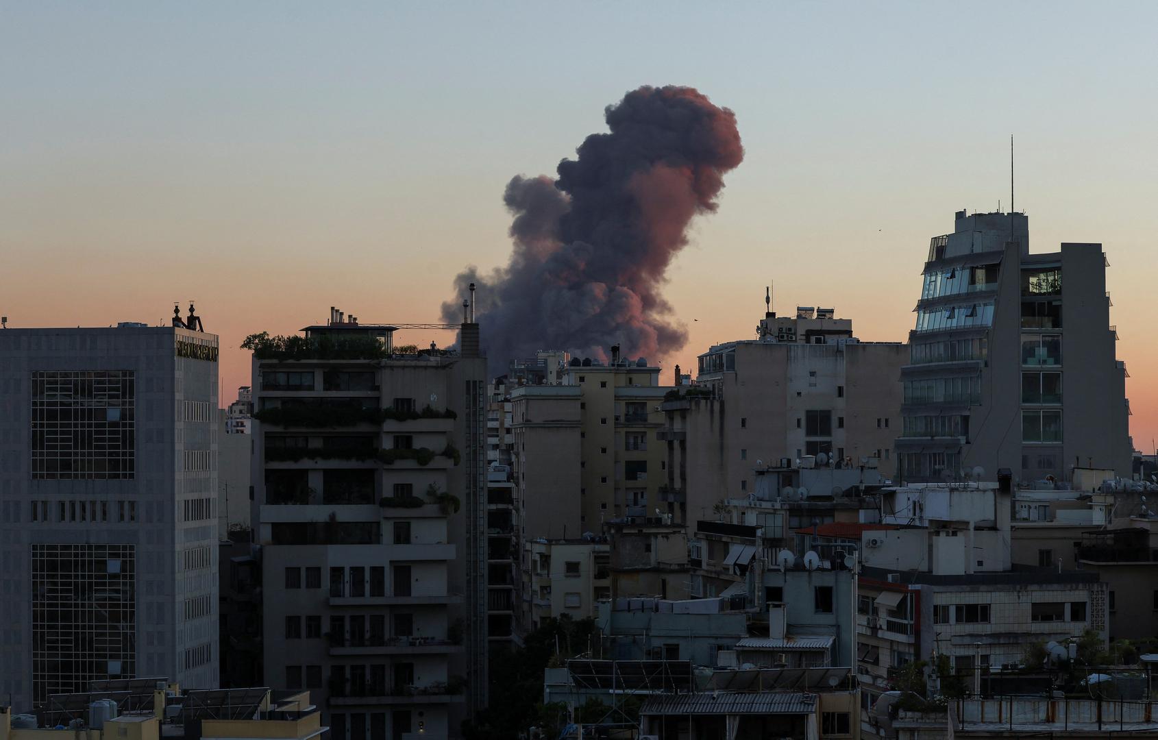
[(396, 349), (334, 309), (255, 350), (265, 673), (339, 740), (457, 737), (486, 703), (485, 359), (456, 328), (461, 351)]

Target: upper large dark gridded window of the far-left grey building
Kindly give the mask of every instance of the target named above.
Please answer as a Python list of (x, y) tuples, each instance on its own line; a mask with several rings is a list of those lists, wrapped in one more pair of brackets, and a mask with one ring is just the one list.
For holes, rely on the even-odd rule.
[(132, 478), (135, 373), (31, 374), (34, 479)]

